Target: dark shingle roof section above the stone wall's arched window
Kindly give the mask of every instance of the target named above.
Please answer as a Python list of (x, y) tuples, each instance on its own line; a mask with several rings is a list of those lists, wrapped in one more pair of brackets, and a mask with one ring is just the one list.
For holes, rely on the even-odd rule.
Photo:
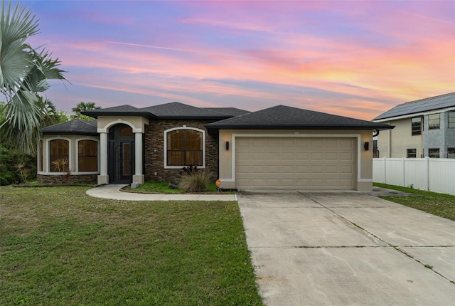
[(141, 108), (141, 110), (150, 112), (158, 118), (163, 119), (225, 119), (232, 117), (220, 112), (215, 112), (207, 108), (194, 107), (180, 102), (171, 102), (161, 105)]

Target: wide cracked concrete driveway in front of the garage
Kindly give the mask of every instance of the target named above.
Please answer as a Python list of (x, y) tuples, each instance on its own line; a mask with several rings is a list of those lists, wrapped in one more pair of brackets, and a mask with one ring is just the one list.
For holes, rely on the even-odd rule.
[(454, 305), (455, 222), (360, 192), (237, 195), (267, 305)]

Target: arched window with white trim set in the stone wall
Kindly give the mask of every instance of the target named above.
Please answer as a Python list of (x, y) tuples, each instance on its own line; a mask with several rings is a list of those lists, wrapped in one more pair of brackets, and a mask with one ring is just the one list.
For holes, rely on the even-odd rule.
[(204, 132), (198, 129), (173, 129), (165, 132), (166, 167), (203, 166)]

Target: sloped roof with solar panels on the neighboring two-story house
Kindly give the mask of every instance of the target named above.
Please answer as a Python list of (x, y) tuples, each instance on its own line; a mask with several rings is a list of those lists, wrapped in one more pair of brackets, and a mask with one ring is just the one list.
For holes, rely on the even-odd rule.
[(445, 95), (406, 102), (393, 107), (391, 110), (387, 110), (387, 112), (382, 113), (373, 120), (412, 115), (418, 112), (428, 112), (430, 110), (441, 110), (446, 107), (455, 107), (455, 93), (446, 93)]

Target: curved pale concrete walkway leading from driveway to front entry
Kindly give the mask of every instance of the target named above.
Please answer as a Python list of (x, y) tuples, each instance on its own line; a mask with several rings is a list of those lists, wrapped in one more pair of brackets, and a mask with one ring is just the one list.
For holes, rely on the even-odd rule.
[(126, 184), (109, 184), (87, 190), (95, 198), (126, 201), (237, 201), (235, 194), (136, 194), (120, 191)]

